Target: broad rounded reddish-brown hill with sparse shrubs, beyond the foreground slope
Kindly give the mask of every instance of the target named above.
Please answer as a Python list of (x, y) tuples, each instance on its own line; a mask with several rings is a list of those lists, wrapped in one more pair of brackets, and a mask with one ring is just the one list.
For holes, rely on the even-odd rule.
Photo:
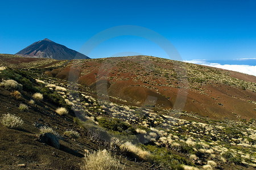
[[(193, 77), (184, 71), (187, 66), (194, 69)], [(141, 107), (175, 108), (217, 119), (256, 118), (256, 105), (249, 102), (256, 101), (254, 92), (214, 81), (207, 84), (189, 82), (191, 78), (200, 82), (200, 79), (197, 80), (197, 72), (200, 78), (200, 71), (209, 71), (209, 74), (216, 74), (216, 77), (225, 74), (256, 82), (255, 76), (234, 71), (143, 56), (72, 61), (62, 70), (52, 70), (51, 74)], [(69, 78), (71, 75), (74, 78)]]

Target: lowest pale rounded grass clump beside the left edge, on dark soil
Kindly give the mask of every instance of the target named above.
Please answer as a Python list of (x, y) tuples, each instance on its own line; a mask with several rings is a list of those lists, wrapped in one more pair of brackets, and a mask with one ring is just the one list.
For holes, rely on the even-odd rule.
[(7, 113), (7, 114), (3, 114), (1, 118), (1, 123), (3, 126), (7, 128), (18, 129), (22, 127), (22, 125), (24, 124), (24, 121), (20, 117)]

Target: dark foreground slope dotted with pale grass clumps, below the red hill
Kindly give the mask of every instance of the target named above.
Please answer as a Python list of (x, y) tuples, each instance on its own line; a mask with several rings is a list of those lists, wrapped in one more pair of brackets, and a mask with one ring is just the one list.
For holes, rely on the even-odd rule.
[[(175, 110), (154, 111), (97, 100), (97, 94), (85, 86), (50, 78), (40, 69), (1, 67), (1, 79), (0, 169), (81, 170), (87, 169), (88, 162), (102, 167), (108, 162), (87, 158), (105, 149), (125, 170), (256, 167), (253, 119), (216, 121)], [(7, 79), (21, 83), (19, 92), (13, 92), (16, 87), (6, 83)], [(34, 92), (43, 97), (35, 100)], [(21, 109), (24, 104), (27, 108)], [(55, 110), (58, 107), (68, 113), (60, 115)], [(3, 124), (8, 121), (6, 113), (23, 120), (20, 129)], [(42, 127), (58, 138), (59, 147), (39, 140), (45, 134)], [(80, 136), (65, 134), (68, 130)]]

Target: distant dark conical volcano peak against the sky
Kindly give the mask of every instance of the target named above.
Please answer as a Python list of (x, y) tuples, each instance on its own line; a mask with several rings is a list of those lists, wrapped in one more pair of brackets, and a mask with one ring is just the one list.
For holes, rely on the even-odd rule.
[(89, 57), (49, 39), (34, 42), (16, 53), (22, 57), (53, 58), (53, 59), (88, 59)]

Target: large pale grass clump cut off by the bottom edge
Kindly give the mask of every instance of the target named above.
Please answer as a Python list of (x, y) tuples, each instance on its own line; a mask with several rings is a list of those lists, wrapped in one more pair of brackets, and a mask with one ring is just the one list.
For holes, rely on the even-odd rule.
[(121, 170), (124, 166), (115, 159), (108, 151), (97, 151), (86, 154), (82, 170)]

